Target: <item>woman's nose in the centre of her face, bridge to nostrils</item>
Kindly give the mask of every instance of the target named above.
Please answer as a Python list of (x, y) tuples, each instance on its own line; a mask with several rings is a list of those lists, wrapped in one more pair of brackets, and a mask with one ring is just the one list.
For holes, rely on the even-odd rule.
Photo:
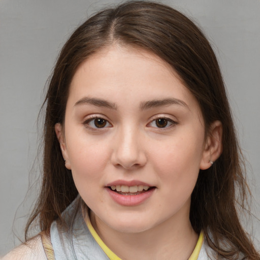
[(147, 162), (147, 156), (142, 143), (138, 131), (127, 127), (119, 131), (113, 142), (112, 164), (127, 170), (143, 167)]

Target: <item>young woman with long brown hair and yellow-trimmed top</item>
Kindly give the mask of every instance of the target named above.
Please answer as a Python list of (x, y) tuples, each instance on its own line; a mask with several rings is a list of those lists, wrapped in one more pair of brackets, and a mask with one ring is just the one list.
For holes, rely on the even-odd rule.
[[(46, 95), (44, 172), (4, 259), (260, 259), (214, 52), (178, 11), (127, 2), (83, 23)], [(240, 207), (240, 208), (239, 208)]]

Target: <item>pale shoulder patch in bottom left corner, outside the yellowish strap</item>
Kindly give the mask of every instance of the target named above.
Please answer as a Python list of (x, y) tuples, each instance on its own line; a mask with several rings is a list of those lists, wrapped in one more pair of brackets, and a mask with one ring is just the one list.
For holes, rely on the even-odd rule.
[(1, 260), (47, 260), (40, 236), (32, 238), (27, 243), (14, 248)]

